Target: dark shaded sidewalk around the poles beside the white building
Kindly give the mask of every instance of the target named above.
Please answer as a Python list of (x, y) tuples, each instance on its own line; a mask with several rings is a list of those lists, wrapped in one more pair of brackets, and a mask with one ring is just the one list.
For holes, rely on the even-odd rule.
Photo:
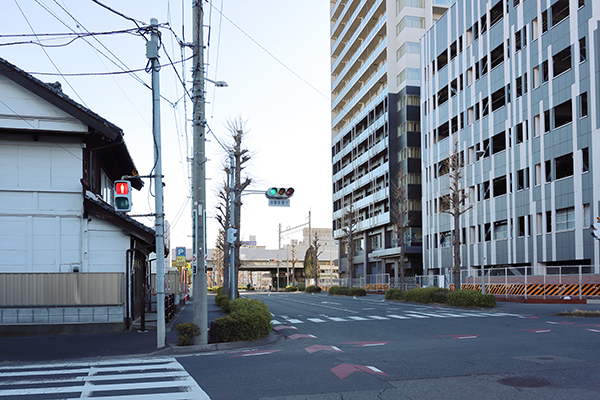
[[(0, 362), (59, 361), (125, 355), (173, 355), (262, 345), (278, 340), (278, 335), (271, 333), (266, 338), (254, 342), (177, 347), (178, 333), (175, 326), (183, 322), (192, 322), (193, 308), (193, 303), (189, 302), (173, 320), (167, 323), (167, 346), (163, 349), (157, 348), (156, 314), (147, 314), (145, 332), (132, 329), (127, 332), (105, 334), (0, 337)], [(208, 295), (207, 308), (209, 323), (226, 315), (220, 307), (217, 307), (212, 294)]]

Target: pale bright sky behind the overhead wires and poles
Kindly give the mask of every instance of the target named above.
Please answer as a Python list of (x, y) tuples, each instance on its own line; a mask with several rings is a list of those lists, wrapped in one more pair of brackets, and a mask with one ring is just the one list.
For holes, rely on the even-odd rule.
[[(0, 57), (62, 90), (123, 129), (140, 175), (151, 172), (152, 103), (145, 39), (135, 33), (56, 37), (47, 34), (113, 32), (137, 28), (135, 22), (169, 24), (161, 28), (160, 62), (162, 165), (165, 219), (171, 248), (192, 246), (189, 156), (192, 154), (192, 104), (184, 105), (182, 80), (191, 90), (191, 59), (182, 59), (178, 39), (192, 40), (193, 0), (2, 0)], [(218, 233), (214, 219), (217, 191), (225, 182), (227, 154), (218, 141), (230, 143), (228, 122), (244, 122), (249, 189), (293, 187), (291, 206), (269, 207), (263, 194), (243, 196), (241, 239), (277, 248), (282, 230), (308, 223), (330, 228), (332, 220), (329, 2), (322, 0), (213, 0), (204, 5), (205, 76), (229, 85), (206, 84), (207, 242)], [(129, 19), (131, 18), (131, 19)], [(173, 33), (174, 32), (174, 33)], [(30, 36), (15, 36), (27, 34)], [(31, 36), (32, 34), (37, 35)], [(17, 43), (21, 42), (21, 43)], [(36, 43), (42, 43), (40, 46)], [(170, 59), (175, 67), (168, 65)], [(192, 56), (184, 49), (183, 58)], [(123, 70), (130, 73), (108, 74)], [(175, 72), (177, 71), (177, 73)], [(98, 75), (100, 73), (100, 75)], [(187, 114), (185, 109), (187, 108)], [(187, 125), (187, 127), (186, 127)], [(216, 137), (216, 138), (215, 138)], [(218, 139), (218, 141), (216, 140)], [(134, 193), (130, 214), (154, 211), (154, 190), (145, 180)], [(153, 226), (150, 217), (136, 217)], [(302, 239), (301, 232), (282, 237)]]

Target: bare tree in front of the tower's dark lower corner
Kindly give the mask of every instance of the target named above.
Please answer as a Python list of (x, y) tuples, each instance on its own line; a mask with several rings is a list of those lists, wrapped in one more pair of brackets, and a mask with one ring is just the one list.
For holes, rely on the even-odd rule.
[(395, 261), (396, 276), (400, 272), (400, 288), (405, 290), (404, 275), (406, 256), (406, 235), (414, 222), (414, 215), (410, 213), (408, 206), (407, 175), (404, 168), (400, 168), (396, 173), (396, 181), (391, 185), (391, 209), (392, 228), (396, 247), (400, 248), (398, 258)]

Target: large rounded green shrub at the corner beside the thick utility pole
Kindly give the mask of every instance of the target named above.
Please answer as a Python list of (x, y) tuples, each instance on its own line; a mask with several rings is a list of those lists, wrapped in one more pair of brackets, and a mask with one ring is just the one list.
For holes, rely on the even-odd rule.
[(255, 340), (271, 332), (271, 312), (256, 299), (235, 299), (227, 317), (217, 318), (217, 336), (223, 342)]

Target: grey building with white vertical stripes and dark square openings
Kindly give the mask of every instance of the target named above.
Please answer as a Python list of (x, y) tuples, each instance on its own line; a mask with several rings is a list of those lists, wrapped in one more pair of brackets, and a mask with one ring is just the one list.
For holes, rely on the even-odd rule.
[[(453, 237), (465, 275), (600, 272), (599, 43), (597, 0), (457, 0), (423, 37), (429, 273), (451, 267)], [(456, 154), (460, 226), (445, 212)]]

